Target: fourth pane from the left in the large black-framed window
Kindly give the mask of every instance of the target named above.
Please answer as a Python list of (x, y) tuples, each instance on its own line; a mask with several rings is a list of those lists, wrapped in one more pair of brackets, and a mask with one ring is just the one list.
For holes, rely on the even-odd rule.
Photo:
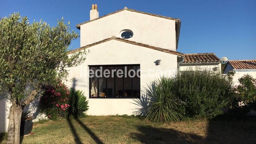
[[(124, 67), (116, 67), (116, 97), (124, 97), (124, 91), (123, 91), (123, 76), (120, 74), (117, 74), (118, 71), (124, 71)], [(119, 77), (118, 77), (119, 76)], [(122, 76), (122, 77), (120, 77)]]

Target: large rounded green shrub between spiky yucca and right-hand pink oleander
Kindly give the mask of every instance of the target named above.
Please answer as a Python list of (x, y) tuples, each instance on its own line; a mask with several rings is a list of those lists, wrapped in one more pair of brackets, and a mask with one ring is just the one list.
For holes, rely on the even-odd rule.
[(185, 116), (212, 118), (222, 113), (232, 97), (232, 83), (209, 70), (186, 71), (175, 77), (175, 92), (183, 102)]

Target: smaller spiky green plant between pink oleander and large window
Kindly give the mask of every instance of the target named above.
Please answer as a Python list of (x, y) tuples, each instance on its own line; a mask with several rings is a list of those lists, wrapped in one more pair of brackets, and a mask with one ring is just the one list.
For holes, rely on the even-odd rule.
[(69, 113), (75, 118), (84, 116), (84, 112), (88, 110), (88, 100), (84, 96), (84, 93), (80, 90), (71, 88), (68, 95), (70, 101)]

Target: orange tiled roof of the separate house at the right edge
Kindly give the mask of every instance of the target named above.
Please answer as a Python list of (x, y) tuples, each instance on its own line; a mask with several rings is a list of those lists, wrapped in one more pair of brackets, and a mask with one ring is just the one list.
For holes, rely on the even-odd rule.
[(256, 69), (256, 60), (228, 60), (234, 69)]

